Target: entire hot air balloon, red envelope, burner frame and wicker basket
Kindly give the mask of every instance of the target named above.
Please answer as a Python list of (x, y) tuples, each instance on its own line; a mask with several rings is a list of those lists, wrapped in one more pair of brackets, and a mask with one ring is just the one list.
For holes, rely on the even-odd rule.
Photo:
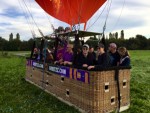
[[(35, 0), (49, 15), (58, 20), (76, 25), (84, 23), (105, 3), (106, 0)], [(103, 31), (104, 32), (104, 31)], [(71, 30), (62, 26), (52, 33), (55, 39), (54, 59), (56, 58), (60, 37), (73, 37), (74, 58), (78, 58), (79, 40), (84, 37), (102, 35), (101, 33)], [(104, 36), (104, 35), (103, 35)], [(40, 55), (43, 48), (48, 47), (47, 39), (41, 41)], [(40, 38), (41, 39), (41, 38)], [(63, 39), (63, 38), (62, 38)], [(104, 42), (103, 37), (102, 42)], [(63, 42), (64, 43), (64, 42)], [(62, 44), (62, 43), (61, 43)], [(46, 62), (46, 52), (41, 59), (27, 58), (26, 80), (45, 91), (54, 94), (58, 99), (73, 105), (81, 112), (104, 113), (126, 110), (130, 106), (130, 66), (111, 67), (101, 66), (93, 70), (85, 67), (78, 67), (74, 62), (72, 65), (57, 65)], [(45, 46), (44, 46), (45, 45)], [(83, 46), (84, 47), (84, 46)], [(65, 48), (65, 46), (63, 47)], [(87, 46), (87, 48), (89, 48)], [(83, 48), (82, 48), (83, 49)], [(88, 49), (86, 49), (88, 50)], [(84, 58), (83, 58), (84, 59)], [(77, 60), (75, 60), (78, 62)], [(88, 62), (90, 62), (88, 60)], [(94, 64), (95, 65), (95, 64)]]

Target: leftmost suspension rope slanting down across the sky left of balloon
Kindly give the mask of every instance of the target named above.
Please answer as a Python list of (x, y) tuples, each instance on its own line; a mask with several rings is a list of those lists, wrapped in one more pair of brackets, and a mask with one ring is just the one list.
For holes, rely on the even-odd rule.
[(24, 14), (24, 16), (25, 16), (25, 19), (26, 19), (27, 24), (28, 24), (28, 26), (29, 26), (29, 29), (30, 29), (30, 31), (31, 31), (32, 37), (35, 38), (35, 37), (36, 37), (36, 34), (35, 34), (35, 32), (34, 32), (34, 27), (33, 27), (32, 23), (31, 23), (30, 19), (28, 18), (29, 15), (28, 15), (28, 13), (27, 13), (27, 10), (26, 10), (25, 8), (23, 8), (23, 6), (22, 6), (20, 0), (18, 0), (18, 2), (19, 2), (20, 8), (23, 10), (23, 14)]

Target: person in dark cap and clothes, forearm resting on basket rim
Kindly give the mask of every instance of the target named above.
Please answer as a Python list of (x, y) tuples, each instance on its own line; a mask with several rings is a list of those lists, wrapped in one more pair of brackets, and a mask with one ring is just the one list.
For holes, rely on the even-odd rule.
[(102, 67), (107, 67), (110, 65), (110, 57), (109, 55), (105, 52), (104, 50), (104, 45), (100, 43), (97, 47), (97, 52), (99, 53), (98, 55), (98, 61), (97, 65), (90, 65), (88, 69), (93, 69), (93, 68), (102, 68)]

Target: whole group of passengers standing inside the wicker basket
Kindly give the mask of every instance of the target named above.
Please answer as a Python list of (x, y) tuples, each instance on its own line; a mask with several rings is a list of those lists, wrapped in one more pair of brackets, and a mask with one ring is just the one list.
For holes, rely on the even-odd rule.
[[(34, 48), (33, 57), (36, 60), (39, 59), (39, 51), (37, 48)], [(49, 50), (47, 48), (43, 59), (44, 58), (46, 62), (56, 65), (75, 66), (78, 68), (86, 68), (88, 70), (111, 66), (130, 66), (129, 52), (125, 47), (117, 48), (115, 43), (109, 44), (108, 51), (105, 51), (104, 45), (99, 43), (96, 52), (94, 51), (94, 47), (83, 44), (81, 49), (78, 49), (76, 55), (74, 55), (72, 44), (59, 44), (55, 61), (54, 49)]]

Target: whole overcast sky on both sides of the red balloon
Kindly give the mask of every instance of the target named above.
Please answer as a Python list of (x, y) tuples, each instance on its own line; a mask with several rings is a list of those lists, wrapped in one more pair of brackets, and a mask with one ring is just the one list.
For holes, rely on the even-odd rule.
[[(34, 0), (24, 1), (34, 18), (34, 21), (43, 34), (47, 35), (52, 33), (51, 24), (53, 24), (55, 28), (60, 25), (64, 27), (69, 26), (68, 24), (47, 15)], [(108, 3), (110, 3), (110, 1), (111, 0), (107, 0)], [(107, 17), (106, 14), (108, 12), (108, 8), (105, 8), (107, 2), (88, 21), (88, 31), (102, 32), (104, 21)], [(39, 36), (37, 27), (31, 17), (27, 22), (27, 13), (24, 13), (25, 11), (26, 7), (23, 0), (0, 1), (1, 37), (9, 39), (9, 34), (12, 32), (14, 35), (20, 33), (21, 40), (28, 40), (32, 37), (31, 29), (34, 29), (36, 36)], [(93, 22), (95, 22), (95, 24), (93, 24)], [(106, 24), (106, 34), (109, 34), (109, 32), (119, 32), (120, 35), (120, 31), (124, 30), (125, 38), (135, 37), (136, 34), (141, 34), (150, 38), (149, 29), (149, 0), (112, 0)]]

